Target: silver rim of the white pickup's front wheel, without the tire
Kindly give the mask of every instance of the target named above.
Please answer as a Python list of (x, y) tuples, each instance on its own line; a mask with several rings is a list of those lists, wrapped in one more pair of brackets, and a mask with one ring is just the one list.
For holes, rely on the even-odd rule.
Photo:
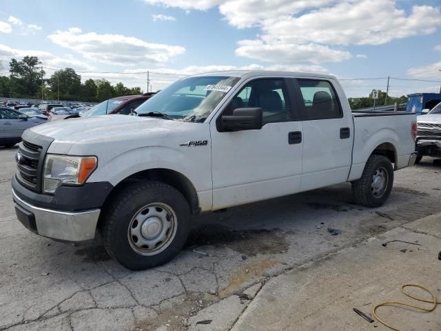
[(163, 252), (176, 235), (178, 219), (170, 205), (149, 203), (140, 208), (129, 223), (127, 237), (132, 249), (141, 255)]

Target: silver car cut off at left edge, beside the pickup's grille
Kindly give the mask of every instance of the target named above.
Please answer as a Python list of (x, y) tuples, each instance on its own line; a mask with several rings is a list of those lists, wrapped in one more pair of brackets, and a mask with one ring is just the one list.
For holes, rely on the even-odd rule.
[(0, 108), (0, 146), (14, 146), (21, 141), (24, 130), (45, 122), (45, 119), (28, 117), (11, 108)]

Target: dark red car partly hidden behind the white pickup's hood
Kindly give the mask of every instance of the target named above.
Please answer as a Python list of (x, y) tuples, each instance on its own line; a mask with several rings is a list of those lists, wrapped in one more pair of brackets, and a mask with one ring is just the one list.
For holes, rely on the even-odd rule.
[(73, 119), (76, 117), (90, 117), (105, 114), (134, 114), (134, 110), (142, 103), (150, 99), (153, 95), (154, 93), (150, 92), (141, 95), (125, 95), (123, 97), (116, 97), (113, 99), (105, 100), (98, 105), (90, 108), (90, 110), (80, 112), (79, 114), (64, 114), (62, 116), (52, 116), (50, 117), (49, 121), (52, 122), (60, 121), (61, 119)]

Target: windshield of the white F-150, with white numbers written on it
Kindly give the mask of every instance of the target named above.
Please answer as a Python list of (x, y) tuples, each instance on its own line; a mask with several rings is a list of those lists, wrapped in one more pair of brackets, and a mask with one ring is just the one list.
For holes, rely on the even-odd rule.
[(238, 77), (189, 77), (176, 81), (136, 108), (137, 114), (161, 112), (171, 119), (203, 122)]

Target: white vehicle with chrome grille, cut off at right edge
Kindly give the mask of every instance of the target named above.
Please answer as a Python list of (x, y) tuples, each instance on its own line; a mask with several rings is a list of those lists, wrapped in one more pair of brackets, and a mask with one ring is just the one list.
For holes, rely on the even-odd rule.
[(424, 156), (441, 157), (441, 102), (429, 113), (418, 116), (416, 150), (416, 163)]

